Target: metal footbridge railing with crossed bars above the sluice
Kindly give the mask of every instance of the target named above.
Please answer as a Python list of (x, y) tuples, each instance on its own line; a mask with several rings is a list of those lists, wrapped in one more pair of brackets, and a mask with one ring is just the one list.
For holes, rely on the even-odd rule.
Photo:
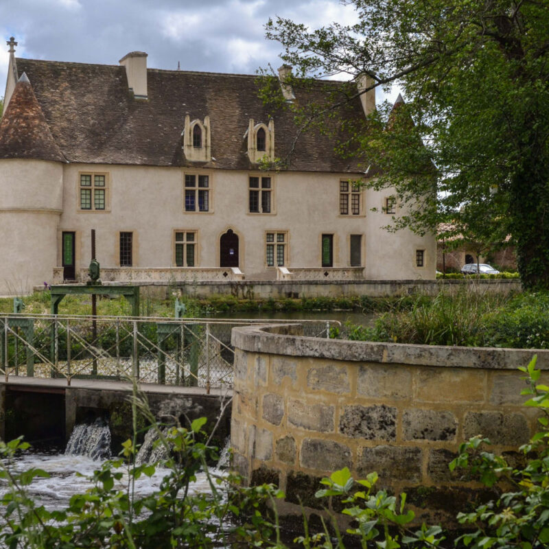
[(210, 388), (233, 386), (231, 329), (298, 323), (329, 337), (336, 320), (214, 320), (0, 314), (0, 374), (71, 379), (136, 379)]

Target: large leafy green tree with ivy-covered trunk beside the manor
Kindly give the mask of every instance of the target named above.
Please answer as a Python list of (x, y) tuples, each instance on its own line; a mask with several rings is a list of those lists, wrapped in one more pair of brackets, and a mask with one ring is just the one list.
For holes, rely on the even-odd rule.
[[(349, 4), (355, 25), (266, 25), (296, 84), (366, 74), (363, 93), (391, 83), (403, 90), (406, 103), (379, 106), (338, 147), (352, 142), (364, 165), (376, 167), (366, 185), (396, 187), (410, 211), (396, 228), (434, 231), (447, 221), (492, 240), (511, 234), (524, 286), (549, 288), (549, 1)], [(353, 100), (349, 93), (318, 106), (298, 98), (290, 108), (307, 126)]]

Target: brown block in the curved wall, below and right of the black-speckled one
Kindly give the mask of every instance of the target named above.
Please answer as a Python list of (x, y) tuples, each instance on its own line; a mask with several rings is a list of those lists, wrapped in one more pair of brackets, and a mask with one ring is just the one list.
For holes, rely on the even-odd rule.
[(421, 481), (421, 449), (400, 446), (364, 447), (358, 459), (358, 474), (376, 471), (380, 480)]

